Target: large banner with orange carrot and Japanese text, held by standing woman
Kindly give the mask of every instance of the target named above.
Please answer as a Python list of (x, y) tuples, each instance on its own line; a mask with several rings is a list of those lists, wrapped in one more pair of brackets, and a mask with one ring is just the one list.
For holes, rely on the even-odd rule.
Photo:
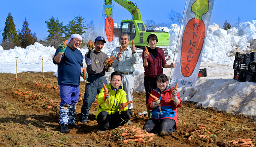
[(196, 85), (214, 0), (190, 0), (171, 83)]

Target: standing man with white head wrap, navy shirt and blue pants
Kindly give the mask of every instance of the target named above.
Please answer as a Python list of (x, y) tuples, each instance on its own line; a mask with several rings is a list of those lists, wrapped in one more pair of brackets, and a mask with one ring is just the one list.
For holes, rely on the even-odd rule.
[(61, 43), (53, 57), (58, 65), (58, 85), (60, 90), (59, 125), (62, 133), (69, 133), (68, 125), (75, 124), (75, 111), (78, 102), (80, 75), (83, 74), (83, 55), (77, 49), (82, 43), (79, 34), (72, 34), (67, 45)]

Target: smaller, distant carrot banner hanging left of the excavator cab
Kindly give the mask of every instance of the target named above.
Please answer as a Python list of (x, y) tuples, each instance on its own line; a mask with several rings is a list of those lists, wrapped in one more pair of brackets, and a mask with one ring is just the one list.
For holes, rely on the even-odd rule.
[(115, 46), (113, 5), (103, 5), (105, 47)]

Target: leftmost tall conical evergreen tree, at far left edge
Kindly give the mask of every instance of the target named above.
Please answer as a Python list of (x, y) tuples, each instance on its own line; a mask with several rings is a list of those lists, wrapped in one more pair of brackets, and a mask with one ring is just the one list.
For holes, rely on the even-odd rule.
[(6, 18), (4, 32), (2, 33), (2, 36), (3, 36), (2, 43), (5, 44), (5, 47), (6, 47), (5, 49), (10, 49), (13, 46), (15, 47), (15, 44), (18, 41), (18, 35), (15, 29), (15, 24), (13, 22), (13, 17), (11, 15), (11, 12), (8, 14)]

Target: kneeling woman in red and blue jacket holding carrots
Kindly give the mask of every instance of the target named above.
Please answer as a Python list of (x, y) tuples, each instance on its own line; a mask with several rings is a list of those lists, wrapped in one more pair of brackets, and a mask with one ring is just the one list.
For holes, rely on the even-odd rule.
[(150, 111), (152, 116), (143, 126), (143, 130), (148, 133), (167, 136), (177, 129), (177, 108), (181, 107), (182, 101), (179, 92), (173, 90), (172, 86), (167, 86), (167, 83), (167, 76), (160, 74), (157, 77), (158, 88), (151, 92), (159, 100), (154, 100), (152, 97), (148, 99), (148, 109), (152, 110)]

